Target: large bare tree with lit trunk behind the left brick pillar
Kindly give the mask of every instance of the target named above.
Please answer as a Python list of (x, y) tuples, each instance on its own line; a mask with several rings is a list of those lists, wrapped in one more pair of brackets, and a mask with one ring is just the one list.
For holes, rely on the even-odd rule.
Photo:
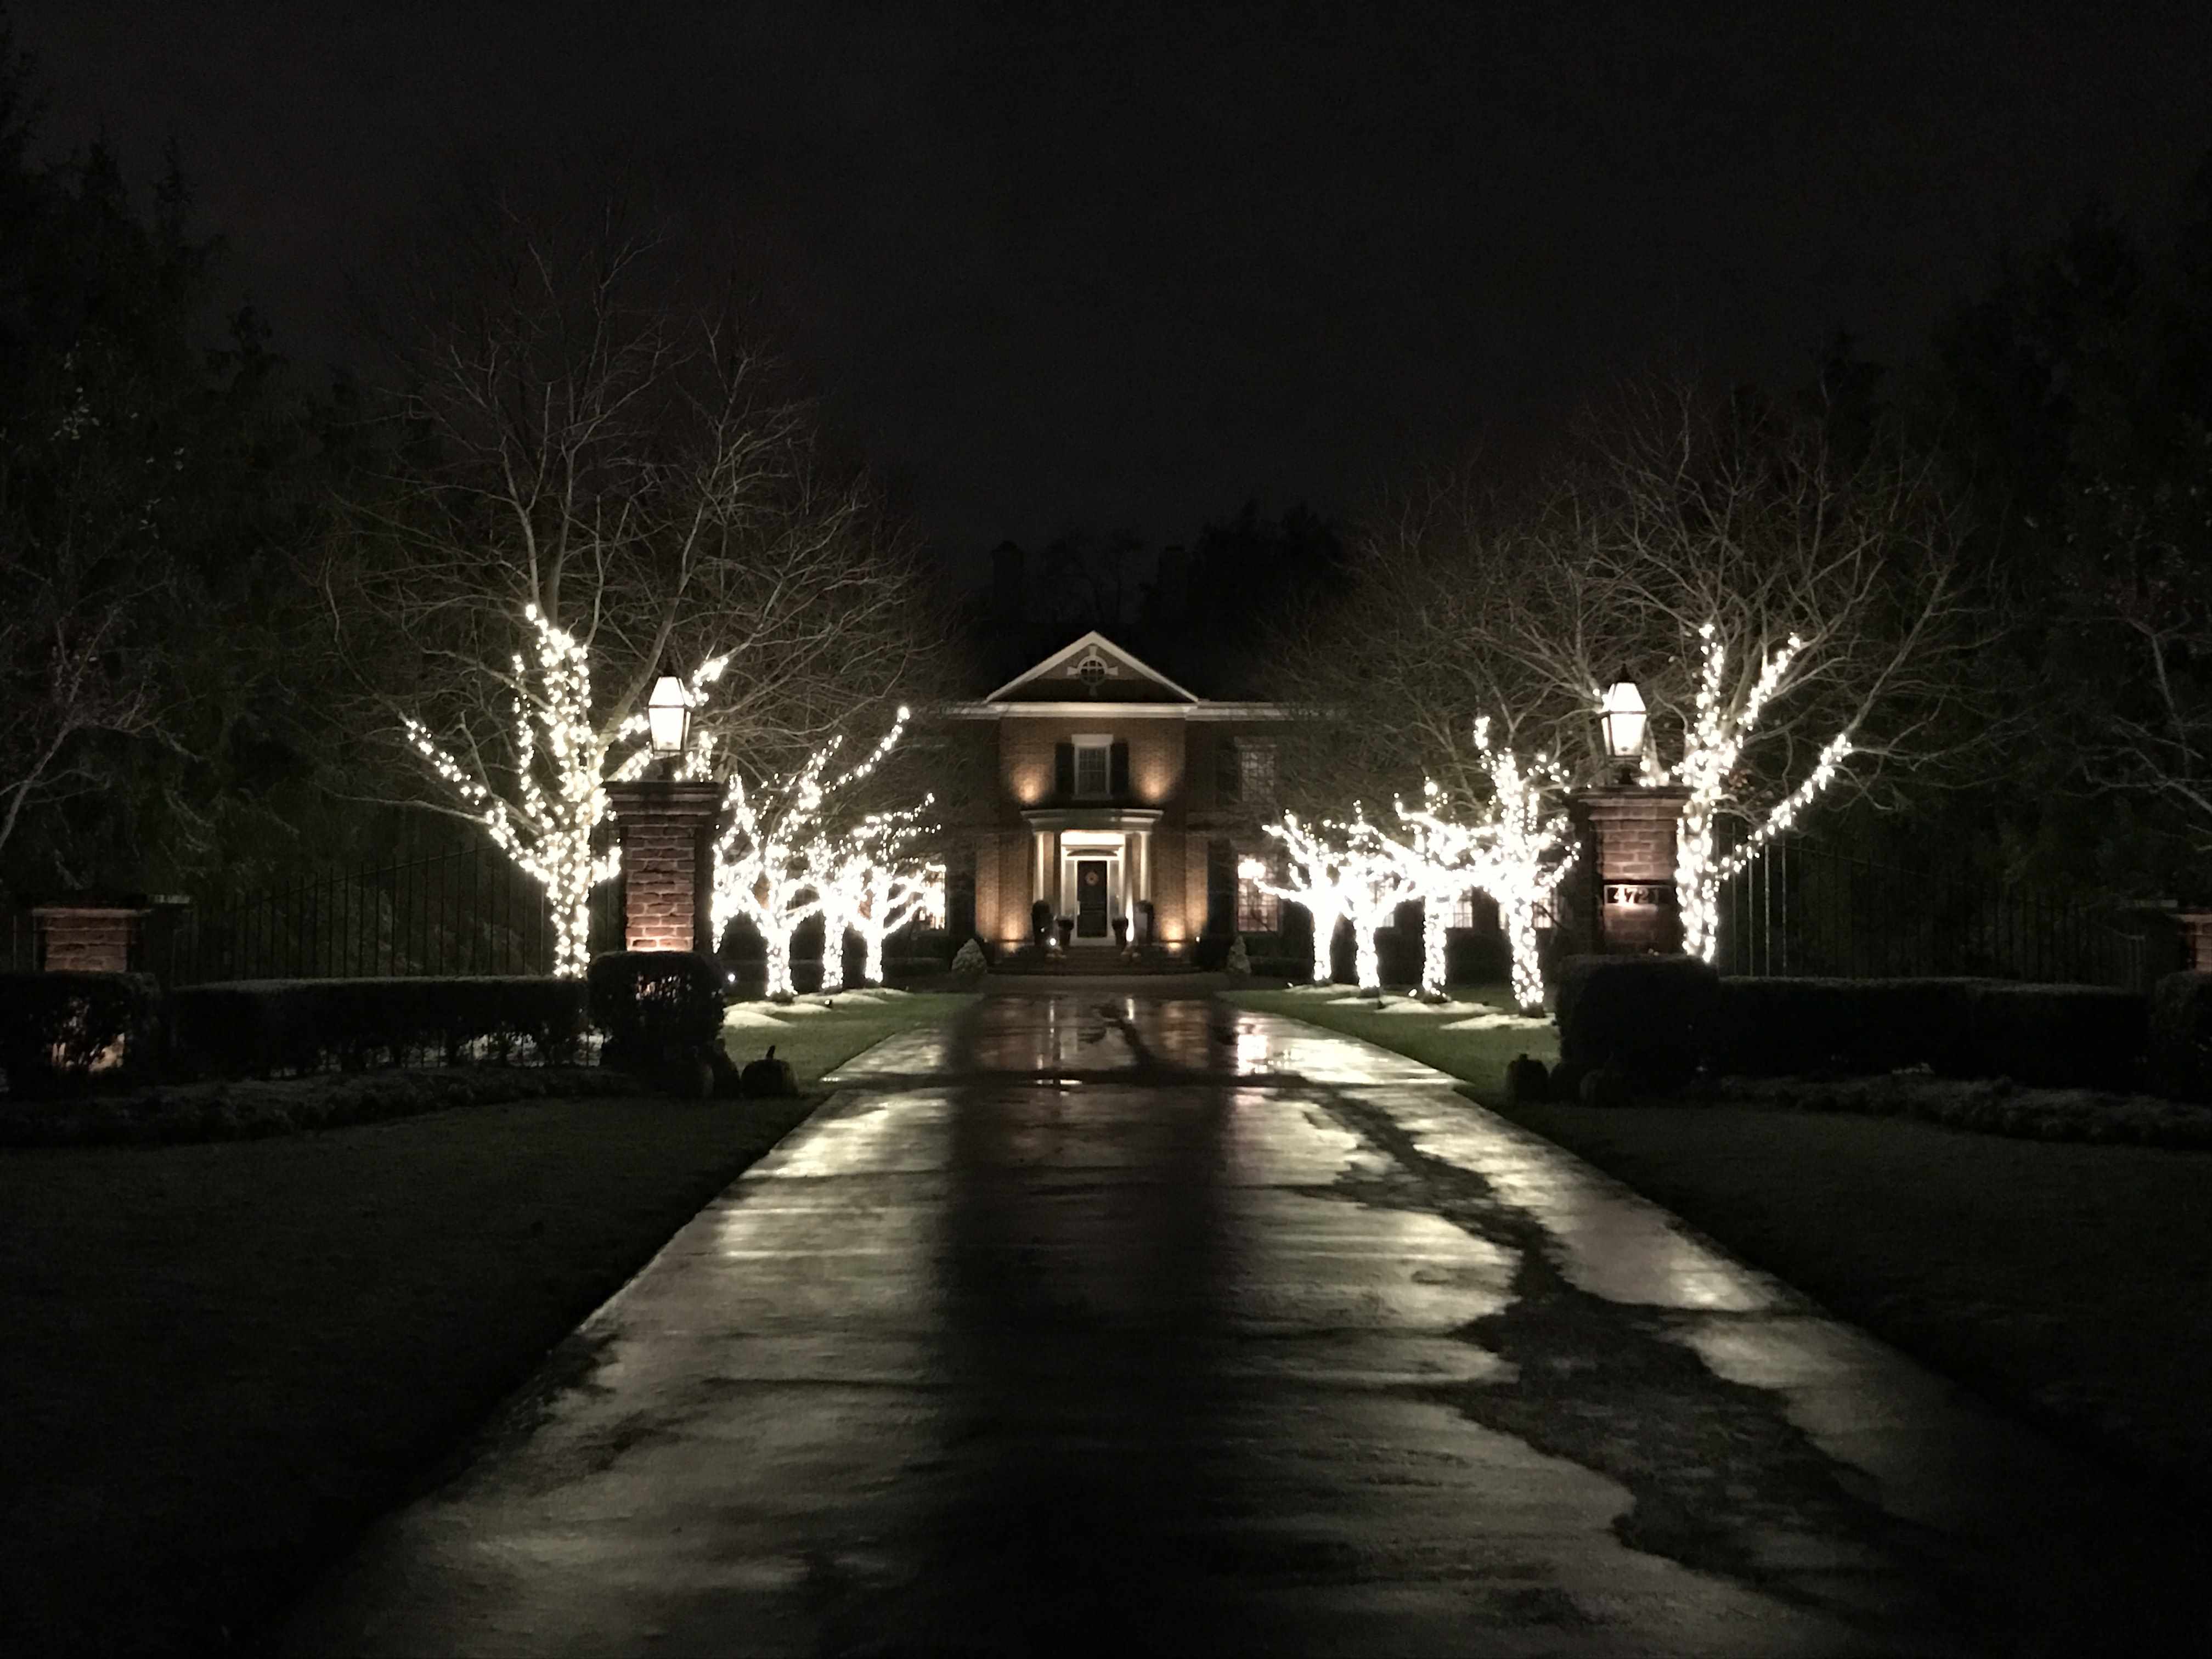
[[(611, 869), (571, 843), (659, 675), (690, 677), (712, 770), (776, 770), (945, 637), (902, 538), (774, 394), (737, 307), (670, 301), (657, 252), (611, 221), (495, 217), (418, 279), (394, 462), (323, 564), (352, 714), (427, 761), (400, 799), (482, 823), (564, 927)], [(564, 803), (553, 841), (533, 827), (546, 803)]]

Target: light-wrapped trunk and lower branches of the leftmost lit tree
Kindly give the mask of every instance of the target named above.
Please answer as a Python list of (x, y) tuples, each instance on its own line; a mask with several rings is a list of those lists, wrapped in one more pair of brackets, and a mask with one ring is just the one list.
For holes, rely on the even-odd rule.
[[(553, 971), (577, 978), (591, 964), (591, 889), (622, 867), (619, 847), (597, 852), (606, 818), (606, 783), (637, 776), (653, 750), (637, 745), (646, 717), (613, 726), (593, 721), (591, 653), (535, 606), (522, 619), (535, 641), (535, 664), (513, 655), (513, 757), (495, 765), (476, 745), (462, 761), (431, 730), (405, 717), (407, 741), (462, 801), (462, 816), (484, 825), (491, 841), (546, 889), (553, 907)], [(710, 657), (690, 677), (690, 697), (703, 701), (730, 659)], [(617, 759), (619, 754), (619, 759)], [(686, 776), (703, 776), (712, 739), (697, 732), (684, 759)]]

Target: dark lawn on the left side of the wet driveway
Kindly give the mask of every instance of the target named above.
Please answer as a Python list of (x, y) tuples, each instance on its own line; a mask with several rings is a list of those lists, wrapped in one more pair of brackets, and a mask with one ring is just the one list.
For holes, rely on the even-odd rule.
[[(814, 1079), (953, 1002), (823, 1013), (790, 1053)], [(0, 1652), (250, 1635), (812, 1106), (0, 1152)]]

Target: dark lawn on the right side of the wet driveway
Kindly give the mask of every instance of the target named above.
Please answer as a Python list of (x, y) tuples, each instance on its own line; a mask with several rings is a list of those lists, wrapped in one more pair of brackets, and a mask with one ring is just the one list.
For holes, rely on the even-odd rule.
[(1548, 1060), (1546, 1033), (1462, 1037), (1310, 993), (1230, 1000), (1460, 1077), (1929, 1367), (2174, 1491), (2212, 1493), (2212, 1152), (1692, 1099), (1506, 1106), (1504, 1062)]

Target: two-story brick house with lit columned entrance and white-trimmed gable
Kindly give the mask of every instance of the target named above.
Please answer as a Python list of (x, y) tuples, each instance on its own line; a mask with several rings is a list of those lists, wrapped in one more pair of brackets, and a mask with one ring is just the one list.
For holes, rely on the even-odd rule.
[(1055, 650), (975, 703), (956, 706), (964, 774), (989, 799), (951, 803), (953, 938), (1013, 949), (1031, 907), (1075, 922), (1075, 951), (1110, 951), (1150, 907), (1152, 940), (1183, 953), (1203, 933), (1272, 933), (1276, 902), (1237, 880), (1272, 843), (1274, 703), (1210, 701), (1099, 633)]

